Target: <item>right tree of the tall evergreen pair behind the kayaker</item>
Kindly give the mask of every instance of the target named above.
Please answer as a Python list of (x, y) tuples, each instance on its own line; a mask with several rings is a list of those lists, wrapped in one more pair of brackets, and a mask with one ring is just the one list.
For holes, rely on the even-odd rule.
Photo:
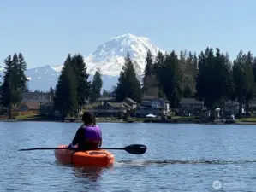
[(71, 58), (72, 66), (74, 67), (74, 73), (77, 81), (77, 101), (79, 111), (86, 103), (86, 100), (91, 95), (92, 84), (88, 81), (89, 74), (86, 73), (87, 67), (82, 55), (74, 55)]

